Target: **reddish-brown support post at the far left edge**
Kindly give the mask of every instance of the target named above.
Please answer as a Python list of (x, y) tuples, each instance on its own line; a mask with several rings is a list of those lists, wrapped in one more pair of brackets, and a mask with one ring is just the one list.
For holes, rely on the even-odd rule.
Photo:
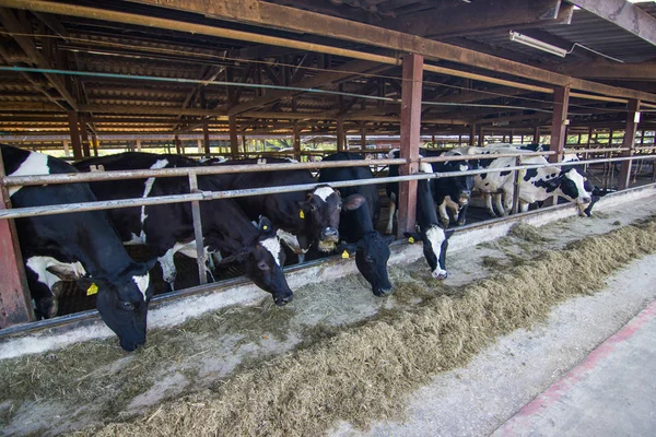
[[(0, 154), (0, 178), (2, 177), (4, 163)], [(9, 193), (0, 185), (0, 210), (9, 208)], [(16, 228), (13, 220), (0, 220), (0, 327), (8, 328), (33, 320), (32, 298), (25, 280)]]

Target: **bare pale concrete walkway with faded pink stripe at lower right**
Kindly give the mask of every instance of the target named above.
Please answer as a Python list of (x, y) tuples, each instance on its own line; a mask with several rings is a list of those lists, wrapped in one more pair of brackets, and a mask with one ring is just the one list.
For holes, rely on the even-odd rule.
[(437, 376), (412, 395), (403, 422), (366, 432), (342, 423), (331, 435), (656, 435), (654, 265), (655, 255), (633, 262), (605, 291)]

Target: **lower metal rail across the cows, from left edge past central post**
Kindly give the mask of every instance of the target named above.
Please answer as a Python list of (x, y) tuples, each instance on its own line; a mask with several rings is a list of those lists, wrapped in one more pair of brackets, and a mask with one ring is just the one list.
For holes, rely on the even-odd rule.
[[(370, 178), (359, 180), (344, 180), (330, 182), (333, 188), (340, 187), (353, 187), (359, 185), (374, 185), (374, 184), (386, 184), (386, 182), (399, 182), (403, 180), (418, 180), (418, 179), (431, 179), (435, 176), (432, 173), (421, 173), (409, 176), (394, 176), (384, 178)], [(278, 187), (266, 187), (266, 188), (248, 188), (243, 190), (227, 190), (227, 191), (201, 191), (189, 194), (175, 194), (175, 196), (157, 196), (153, 198), (137, 198), (137, 199), (120, 199), (120, 200), (102, 200), (96, 202), (84, 202), (84, 203), (65, 203), (59, 205), (48, 206), (30, 206), (30, 208), (15, 208), (11, 210), (1, 210), (0, 218), (20, 218), (38, 215), (50, 215), (50, 214), (66, 214), (73, 212), (84, 211), (99, 211), (109, 210), (115, 208), (132, 208), (132, 206), (149, 206), (154, 204), (167, 204), (167, 203), (181, 203), (189, 201), (204, 201), (204, 200), (219, 200), (219, 199), (232, 199), (242, 198), (246, 196), (257, 194), (276, 194), (281, 192), (293, 192), (293, 191), (306, 191), (312, 190), (315, 187), (324, 184), (301, 184), (290, 186), (278, 186)]]

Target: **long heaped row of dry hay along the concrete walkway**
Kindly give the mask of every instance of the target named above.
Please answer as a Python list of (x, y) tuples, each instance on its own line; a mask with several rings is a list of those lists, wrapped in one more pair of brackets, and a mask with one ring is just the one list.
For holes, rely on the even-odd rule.
[(613, 269), (656, 250), (655, 227), (651, 221), (544, 252), (459, 295), (385, 311), (261, 362), (137, 421), (75, 435), (306, 436), (338, 420), (366, 426), (399, 418), (407, 395), (436, 373), (462, 366), (499, 335), (543, 320), (554, 304), (599, 290)]

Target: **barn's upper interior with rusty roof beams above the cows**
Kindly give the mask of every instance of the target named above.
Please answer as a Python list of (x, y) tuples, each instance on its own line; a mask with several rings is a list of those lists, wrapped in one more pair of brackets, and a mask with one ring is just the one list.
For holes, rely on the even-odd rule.
[[(0, 7), (0, 141), (65, 158), (152, 151), (304, 162), (491, 142), (594, 149), (586, 158), (654, 153), (654, 2)], [(656, 175), (652, 161), (589, 169), (606, 190)]]

